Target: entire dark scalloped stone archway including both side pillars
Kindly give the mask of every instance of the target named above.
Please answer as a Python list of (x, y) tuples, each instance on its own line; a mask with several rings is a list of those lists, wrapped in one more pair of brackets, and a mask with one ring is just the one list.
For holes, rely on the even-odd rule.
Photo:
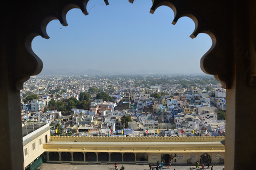
[[(65, 24), (63, 9), (74, 5), (86, 14), (88, 1), (5, 1), (0, 39), (2, 169), (23, 169), (19, 89), (43, 67), (31, 52), (31, 40), (38, 35), (47, 38), (42, 30), (43, 19), (53, 16)], [(173, 4), (175, 22), (190, 13), (198, 20), (198, 33), (214, 35), (209, 33), (212, 39), (215, 37), (215, 45), (203, 56), (201, 66), (227, 88), (225, 168), (251, 168), (256, 150), (256, 136), (252, 135), (256, 128), (256, 1), (153, 0), (151, 10), (160, 4)]]

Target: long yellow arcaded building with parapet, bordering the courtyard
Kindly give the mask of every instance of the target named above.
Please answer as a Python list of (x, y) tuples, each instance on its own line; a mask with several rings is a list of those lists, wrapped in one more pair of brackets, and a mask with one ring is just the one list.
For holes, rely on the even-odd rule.
[(56, 137), (43, 145), (48, 162), (172, 164), (224, 161), (225, 137)]

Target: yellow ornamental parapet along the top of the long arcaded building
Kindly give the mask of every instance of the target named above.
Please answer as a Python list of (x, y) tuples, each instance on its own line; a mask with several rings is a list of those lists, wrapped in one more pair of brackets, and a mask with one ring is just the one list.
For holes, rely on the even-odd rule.
[(218, 137), (59, 137), (51, 136), (55, 142), (218, 142), (224, 140)]

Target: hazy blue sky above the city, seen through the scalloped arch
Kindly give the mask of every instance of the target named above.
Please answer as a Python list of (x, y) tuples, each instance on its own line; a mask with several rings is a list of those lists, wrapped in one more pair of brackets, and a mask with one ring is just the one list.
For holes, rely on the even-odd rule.
[(210, 49), (211, 38), (189, 36), (194, 22), (186, 17), (172, 25), (173, 11), (158, 7), (150, 14), (150, 0), (91, 0), (84, 15), (73, 9), (67, 27), (58, 20), (47, 25), (50, 39), (34, 38), (32, 48), (44, 63), (43, 70), (89, 69), (133, 72), (166, 70), (170, 73), (203, 73), (201, 57)]

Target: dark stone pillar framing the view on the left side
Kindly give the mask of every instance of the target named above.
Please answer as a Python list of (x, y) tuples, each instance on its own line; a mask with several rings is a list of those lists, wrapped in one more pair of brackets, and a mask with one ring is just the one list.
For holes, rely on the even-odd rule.
[[(14, 47), (14, 46), (13, 46)], [(5, 45), (2, 49), (7, 49)], [(21, 129), (20, 90), (13, 89), (12, 78), (5, 61), (0, 57), (0, 165), (1, 169), (23, 169), (23, 145)]]

